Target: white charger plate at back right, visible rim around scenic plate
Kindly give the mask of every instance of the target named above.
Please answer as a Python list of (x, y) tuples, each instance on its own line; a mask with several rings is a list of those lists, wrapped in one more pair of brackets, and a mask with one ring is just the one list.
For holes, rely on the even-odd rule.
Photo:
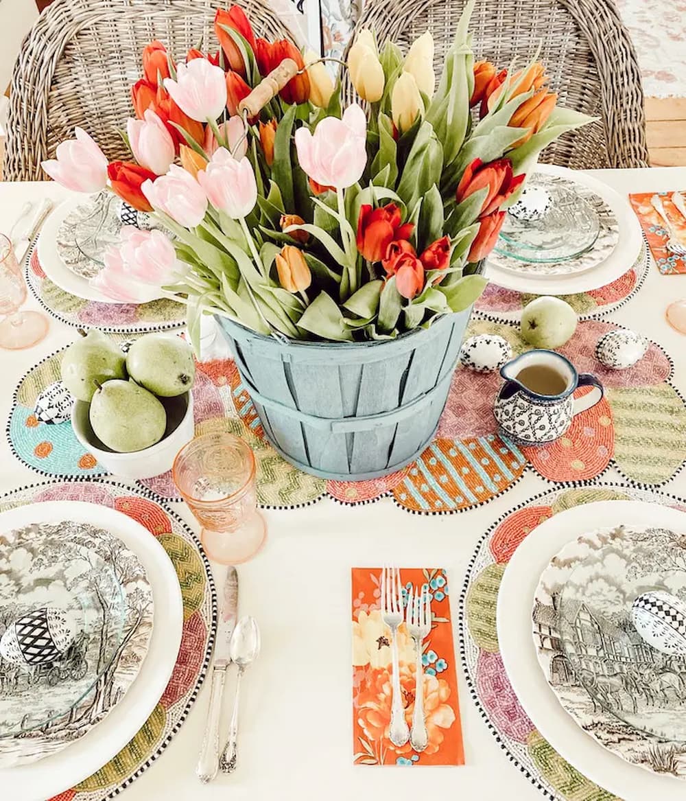
[[(601, 264), (577, 274), (524, 276), (522, 273), (503, 270), (486, 262), (486, 277), (499, 287), (533, 295), (573, 295), (598, 289), (623, 276), (631, 268), (640, 253), (643, 238), (640, 223), (629, 205), (628, 199), (616, 192), (607, 183), (585, 172), (569, 170), (555, 164), (538, 164), (536, 171), (545, 175), (560, 175), (592, 189), (604, 199), (615, 216), (620, 229), (620, 238), (612, 253)], [(589, 251), (592, 252), (592, 251)]]

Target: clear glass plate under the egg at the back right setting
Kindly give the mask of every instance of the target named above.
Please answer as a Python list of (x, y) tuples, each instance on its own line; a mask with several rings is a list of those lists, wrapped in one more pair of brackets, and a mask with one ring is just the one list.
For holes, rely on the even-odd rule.
[(548, 192), (548, 209), (537, 219), (507, 214), (495, 252), (546, 264), (575, 259), (593, 247), (600, 234), (600, 217), (575, 183), (556, 175), (535, 173), (528, 187)]

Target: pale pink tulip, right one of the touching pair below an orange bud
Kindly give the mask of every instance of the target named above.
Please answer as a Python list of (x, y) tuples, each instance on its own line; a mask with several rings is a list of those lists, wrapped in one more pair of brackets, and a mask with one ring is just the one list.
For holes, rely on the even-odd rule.
[(219, 211), (233, 219), (250, 214), (257, 203), (255, 172), (248, 159), (234, 159), (226, 147), (220, 147), (204, 170), (198, 183), (207, 199)]

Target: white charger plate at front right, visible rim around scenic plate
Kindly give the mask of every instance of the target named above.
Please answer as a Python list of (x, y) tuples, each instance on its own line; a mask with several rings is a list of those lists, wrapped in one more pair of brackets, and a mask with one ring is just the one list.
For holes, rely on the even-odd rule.
[(560, 705), (536, 658), (532, 608), (540, 575), (552, 557), (584, 531), (622, 523), (686, 532), (686, 513), (644, 501), (598, 501), (567, 509), (536, 526), (512, 555), (500, 582), (500, 654), (524, 710), (568, 763), (624, 801), (683, 801), (683, 780), (625, 762), (579, 727)]

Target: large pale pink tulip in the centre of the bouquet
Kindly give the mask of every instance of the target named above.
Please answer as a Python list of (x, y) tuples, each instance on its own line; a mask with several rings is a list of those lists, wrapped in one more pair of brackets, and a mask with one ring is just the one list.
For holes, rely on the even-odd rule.
[(295, 131), (300, 167), (312, 180), (327, 187), (351, 187), (367, 164), (367, 118), (357, 103), (343, 112), (343, 119), (325, 117), (315, 128)]

